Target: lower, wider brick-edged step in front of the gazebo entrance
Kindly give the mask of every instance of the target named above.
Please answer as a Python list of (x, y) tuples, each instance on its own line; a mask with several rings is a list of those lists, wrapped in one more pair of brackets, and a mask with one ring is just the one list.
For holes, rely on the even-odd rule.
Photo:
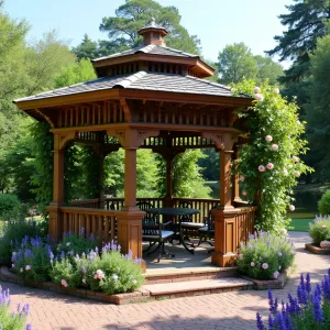
[(199, 296), (218, 294), (222, 292), (242, 290), (252, 288), (253, 283), (243, 278), (227, 277), (201, 280), (189, 280), (185, 283), (164, 283), (144, 285), (143, 290), (156, 298), (177, 298), (186, 296)]

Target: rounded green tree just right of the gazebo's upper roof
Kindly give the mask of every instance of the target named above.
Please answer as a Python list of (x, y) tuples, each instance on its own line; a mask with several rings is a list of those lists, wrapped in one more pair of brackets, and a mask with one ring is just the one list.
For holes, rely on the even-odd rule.
[(219, 52), (218, 61), (220, 81), (222, 84), (237, 84), (243, 77), (255, 79), (257, 75), (255, 59), (244, 43), (227, 45), (222, 52)]

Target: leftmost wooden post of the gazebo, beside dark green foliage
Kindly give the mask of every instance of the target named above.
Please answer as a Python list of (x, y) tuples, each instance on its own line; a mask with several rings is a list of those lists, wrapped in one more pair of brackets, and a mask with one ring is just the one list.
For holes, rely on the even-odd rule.
[(48, 233), (56, 241), (63, 233), (59, 207), (64, 204), (64, 150), (61, 147), (61, 134), (54, 134), (53, 202), (47, 207), (50, 212)]

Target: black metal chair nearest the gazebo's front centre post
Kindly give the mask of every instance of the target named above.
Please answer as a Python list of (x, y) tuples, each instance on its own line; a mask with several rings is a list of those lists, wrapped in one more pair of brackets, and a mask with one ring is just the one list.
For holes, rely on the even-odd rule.
[(157, 261), (161, 261), (163, 254), (166, 254), (169, 257), (174, 257), (174, 254), (168, 253), (165, 248), (165, 243), (168, 242), (174, 235), (175, 232), (170, 230), (166, 230), (166, 227), (170, 223), (162, 223), (160, 221), (160, 215), (155, 213), (146, 213), (146, 216), (142, 219), (142, 241), (150, 242), (150, 246), (147, 248), (147, 252), (152, 246), (158, 243), (157, 248), (147, 253), (147, 255), (158, 251)]

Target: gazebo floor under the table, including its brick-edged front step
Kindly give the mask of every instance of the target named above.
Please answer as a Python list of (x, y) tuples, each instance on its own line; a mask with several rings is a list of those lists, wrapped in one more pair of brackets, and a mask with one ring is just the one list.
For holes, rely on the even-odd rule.
[[(148, 243), (143, 244), (144, 250), (147, 246)], [(208, 243), (202, 243), (199, 248), (196, 248), (194, 254), (186, 251), (183, 245), (167, 243), (166, 249), (170, 254), (175, 254), (175, 257), (164, 255), (158, 263), (157, 252), (144, 255), (143, 258), (146, 262), (145, 276), (148, 282), (166, 279), (169, 279), (169, 282), (179, 282), (180, 279), (191, 280), (226, 277), (233, 276), (237, 272), (235, 267), (218, 267), (212, 265), (211, 253), (208, 253), (212, 248)]]

